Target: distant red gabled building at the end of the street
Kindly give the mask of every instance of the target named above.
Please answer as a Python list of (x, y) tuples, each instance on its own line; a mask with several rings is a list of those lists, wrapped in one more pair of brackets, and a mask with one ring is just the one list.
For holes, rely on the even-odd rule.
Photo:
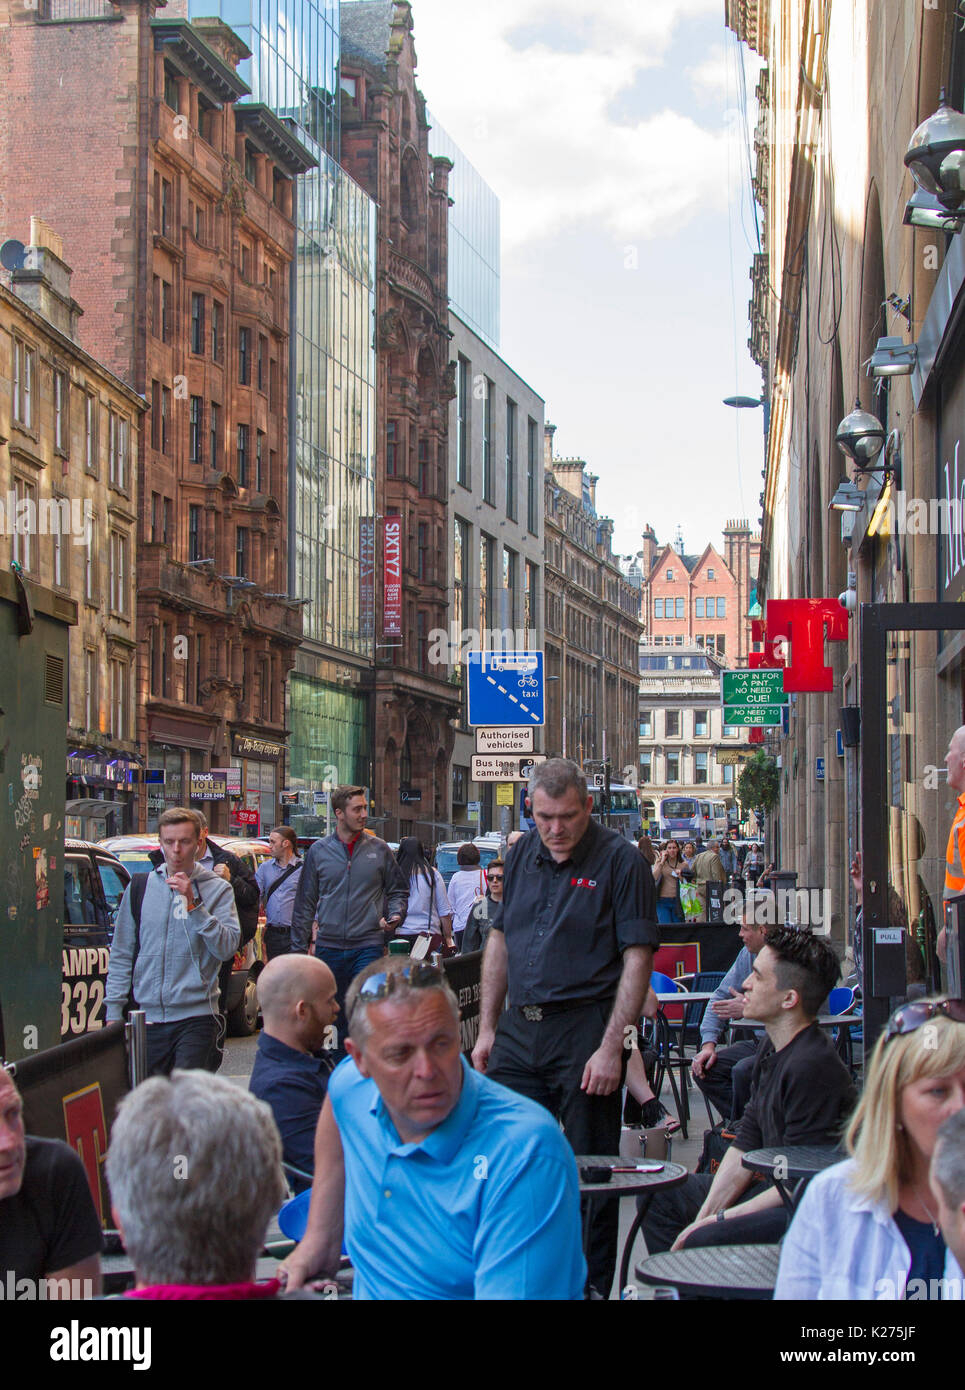
[(751, 534), (747, 521), (729, 521), (723, 538), (723, 553), (708, 545), (701, 555), (687, 555), (683, 538), (676, 546), (660, 546), (647, 528), (638, 559), (647, 646), (695, 642), (724, 667), (747, 664), (761, 537)]

